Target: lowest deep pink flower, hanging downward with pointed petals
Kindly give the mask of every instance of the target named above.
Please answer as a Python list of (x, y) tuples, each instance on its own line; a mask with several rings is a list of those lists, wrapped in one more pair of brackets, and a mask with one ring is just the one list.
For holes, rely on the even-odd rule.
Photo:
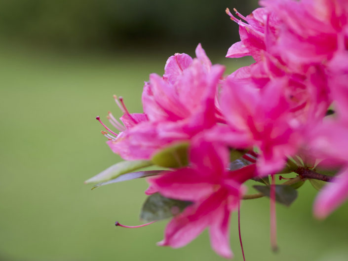
[(228, 149), (205, 141), (193, 144), (190, 160), (189, 167), (149, 180), (166, 197), (194, 202), (169, 222), (159, 245), (185, 246), (209, 227), (213, 249), (231, 258), (230, 213), (237, 208), (245, 191), (241, 184), (256, 176), (255, 165), (229, 171)]

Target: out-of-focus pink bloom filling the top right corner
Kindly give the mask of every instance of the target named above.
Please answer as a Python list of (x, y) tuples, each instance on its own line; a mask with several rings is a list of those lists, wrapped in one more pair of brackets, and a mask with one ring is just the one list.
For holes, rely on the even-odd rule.
[(282, 21), (279, 46), (293, 63), (325, 63), (347, 48), (346, 0), (262, 0)]

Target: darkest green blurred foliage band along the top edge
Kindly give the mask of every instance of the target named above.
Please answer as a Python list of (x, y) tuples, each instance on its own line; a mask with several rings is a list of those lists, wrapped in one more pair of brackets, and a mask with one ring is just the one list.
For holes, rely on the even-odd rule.
[(244, 14), (256, 0), (3, 0), (0, 35), (55, 47), (158, 46), (238, 39), (226, 7)]

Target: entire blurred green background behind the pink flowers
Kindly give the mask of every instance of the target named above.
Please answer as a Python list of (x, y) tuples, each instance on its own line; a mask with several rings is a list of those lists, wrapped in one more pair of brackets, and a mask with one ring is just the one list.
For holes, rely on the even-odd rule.
[[(93, 191), (83, 181), (120, 160), (95, 120), (108, 111), (121, 116), (113, 94), (141, 112), (149, 74), (163, 74), (176, 52), (194, 55), (198, 42), (227, 74), (252, 62), (224, 58), (238, 40), (226, 7), (248, 14), (257, 1), (0, 1), (0, 260), (223, 260), (207, 232), (173, 250), (155, 245), (166, 221), (115, 227), (140, 224), (145, 180)], [(311, 214), (315, 194), (305, 184), (290, 208), (277, 205), (276, 254), (269, 201), (243, 202), (247, 261), (347, 261), (348, 204), (319, 222)], [(236, 215), (231, 245), (241, 261)]]

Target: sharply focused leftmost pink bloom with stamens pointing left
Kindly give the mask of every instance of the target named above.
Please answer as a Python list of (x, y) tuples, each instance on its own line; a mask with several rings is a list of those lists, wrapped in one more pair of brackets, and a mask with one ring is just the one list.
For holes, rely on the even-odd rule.
[(121, 101), (126, 128), (113, 124), (121, 132), (108, 134), (107, 142), (115, 153), (126, 160), (149, 159), (156, 150), (188, 141), (216, 124), (215, 99), (225, 68), (212, 66), (200, 44), (196, 56), (175, 54), (167, 60), (163, 77), (150, 75), (142, 96), (145, 114), (130, 114)]

